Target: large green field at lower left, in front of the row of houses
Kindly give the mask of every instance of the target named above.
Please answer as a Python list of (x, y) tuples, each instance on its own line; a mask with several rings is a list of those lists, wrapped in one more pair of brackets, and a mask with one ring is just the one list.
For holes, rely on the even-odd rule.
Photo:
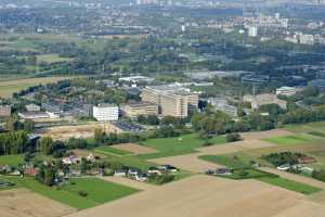
[[(5, 179), (77, 209), (90, 208), (139, 191), (96, 178), (72, 179), (75, 184), (69, 183), (60, 189), (46, 187), (34, 178), (5, 177)], [(81, 196), (79, 191), (87, 192), (88, 195)]]

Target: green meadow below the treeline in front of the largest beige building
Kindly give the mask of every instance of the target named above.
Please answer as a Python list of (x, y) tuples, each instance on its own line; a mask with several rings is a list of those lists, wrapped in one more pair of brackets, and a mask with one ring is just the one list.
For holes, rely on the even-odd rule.
[[(214, 137), (209, 140), (211, 144), (223, 144), (225, 142), (225, 137)], [(139, 155), (141, 158), (150, 159), (194, 153), (196, 149), (204, 146), (204, 141), (198, 138), (198, 135), (192, 133), (177, 138), (150, 139), (142, 142), (142, 144), (158, 151), (157, 153)]]

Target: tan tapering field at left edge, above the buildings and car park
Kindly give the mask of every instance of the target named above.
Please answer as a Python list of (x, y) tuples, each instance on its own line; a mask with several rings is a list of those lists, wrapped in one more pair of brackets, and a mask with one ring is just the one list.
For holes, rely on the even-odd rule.
[(13, 93), (32, 86), (57, 82), (74, 77), (39, 77), (0, 81), (0, 98), (11, 98)]

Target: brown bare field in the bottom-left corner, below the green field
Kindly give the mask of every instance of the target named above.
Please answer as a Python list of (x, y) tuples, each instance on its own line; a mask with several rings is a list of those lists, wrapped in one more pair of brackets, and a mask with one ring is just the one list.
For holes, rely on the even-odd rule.
[(60, 217), (76, 212), (26, 189), (0, 191), (1, 217)]

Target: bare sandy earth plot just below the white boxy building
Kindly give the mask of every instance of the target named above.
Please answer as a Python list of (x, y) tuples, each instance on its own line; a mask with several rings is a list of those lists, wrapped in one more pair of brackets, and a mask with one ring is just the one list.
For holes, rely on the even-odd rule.
[(89, 123), (87, 125), (78, 126), (58, 126), (44, 129), (42, 136), (51, 137), (53, 139), (67, 140), (75, 138), (91, 138), (95, 129), (105, 129), (106, 132), (120, 133), (121, 130), (108, 123)]

